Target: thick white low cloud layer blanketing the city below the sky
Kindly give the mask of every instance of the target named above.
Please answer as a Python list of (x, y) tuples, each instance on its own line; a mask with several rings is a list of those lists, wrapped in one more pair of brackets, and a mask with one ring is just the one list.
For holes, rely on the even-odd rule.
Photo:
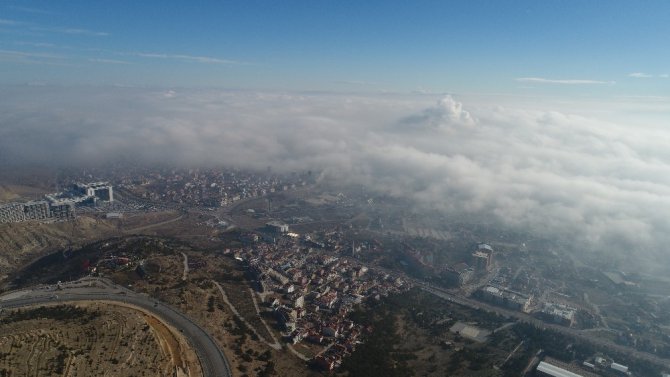
[[(531, 109), (491, 102), (10, 88), (0, 92), (0, 162), (67, 166), (124, 156), (311, 169), (417, 205), (560, 237), (637, 266), (667, 260), (670, 132), (652, 121), (578, 115), (585, 112), (570, 104)], [(662, 103), (655, 111), (656, 119), (668, 114)], [(634, 109), (620, 117), (638, 118)]]

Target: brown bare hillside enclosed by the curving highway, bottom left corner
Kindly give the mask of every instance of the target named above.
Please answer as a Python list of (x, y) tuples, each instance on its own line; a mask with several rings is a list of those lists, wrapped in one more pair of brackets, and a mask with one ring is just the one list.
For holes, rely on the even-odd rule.
[(46, 306), (13, 311), (1, 323), (0, 375), (202, 375), (177, 331), (129, 307)]

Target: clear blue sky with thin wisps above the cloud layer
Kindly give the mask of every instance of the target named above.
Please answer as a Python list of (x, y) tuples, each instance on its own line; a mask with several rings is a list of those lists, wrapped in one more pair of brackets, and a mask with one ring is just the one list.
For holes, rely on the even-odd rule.
[(668, 20), (667, 1), (3, 1), (0, 84), (664, 96)]

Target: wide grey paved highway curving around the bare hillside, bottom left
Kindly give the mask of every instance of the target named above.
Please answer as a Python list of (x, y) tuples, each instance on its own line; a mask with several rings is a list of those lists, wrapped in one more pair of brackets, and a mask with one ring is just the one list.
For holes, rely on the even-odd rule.
[(43, 289), (13, 292), (0, 296), (0, 307), (18, 308), (40, 304), (72, 301), (108, 301), (124, 303), (144, 309), (166, 323), (179, 329), (191, 343), (198, 355), (203, 375), (206, 377), (230, 377), (230, 365), (212, 337), (184, 314), (148, 296), (132, 293), (119, 288), (79, 286), (60, 291)]

